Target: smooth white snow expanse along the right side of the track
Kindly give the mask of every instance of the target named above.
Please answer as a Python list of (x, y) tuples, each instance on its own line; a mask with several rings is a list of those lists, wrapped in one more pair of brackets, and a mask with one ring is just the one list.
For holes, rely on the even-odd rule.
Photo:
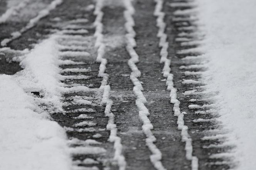
[[(256, 162), (256, 1), (197, 0), (204, 24), (209, 71), (205, 80), (218, 91), (221, 121), (234, 138), (231, 156), (239, 170), (255, 169)], [(207, 78), (210, 76), (211, 79)]]

